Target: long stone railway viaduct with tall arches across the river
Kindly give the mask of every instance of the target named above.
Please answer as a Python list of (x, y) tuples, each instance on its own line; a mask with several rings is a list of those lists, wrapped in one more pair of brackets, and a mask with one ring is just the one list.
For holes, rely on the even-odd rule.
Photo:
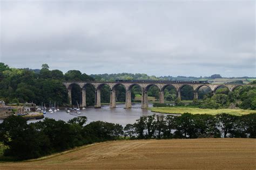
[(91, 84), (95, 87), (95, 108), (100, 108), (100, 89), (107, 85), (110, 87), (110, 108), (116, 107), (116, 88), (117, 86), (124, 86), (126, 90), (125, 97), (125, 108), (131, 108), (131, 89), (133, 86), (138, 85), (142, 89), (142, 108), (147, 108), (147, 91), (151, 86), (157, 86), (159, 88), (159, 103), (164, 103), (164, 90), (167, 86), (173, 86), (178, 97), (180, 97), (180, 90), (188, 85), (191, 86), (194, 90), (194, 98), (198, 98), (198, 90), (203, 86), (207, 86), (212, 90), (212, 93), (215, 94), (216, 89), (219, 87), (227, 87), (230, 91), (233, 91), (235, 88), (242, 86), (241, 84), (206, 84), (206, 83), (167, 83), (167, 82), (97, 82), (97, 81), (69, 81), (63, 82), (64, 86), (69, 91), (69, 100), (71, 103), (71, 89), (74, 84), (77, 84), (82, 90), (82, 103), (81, 107), (86, 107), (86, 86)]

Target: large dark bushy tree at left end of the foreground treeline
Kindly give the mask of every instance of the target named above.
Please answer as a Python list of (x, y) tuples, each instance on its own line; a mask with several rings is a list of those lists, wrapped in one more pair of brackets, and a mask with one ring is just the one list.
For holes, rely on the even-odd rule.
[(19, 160), (38, 158), (49, 153), (49, 140), (27, 124), (23, 117), (10, 116), (0, 124), (0, 140), (9, 148), (4, 155)]

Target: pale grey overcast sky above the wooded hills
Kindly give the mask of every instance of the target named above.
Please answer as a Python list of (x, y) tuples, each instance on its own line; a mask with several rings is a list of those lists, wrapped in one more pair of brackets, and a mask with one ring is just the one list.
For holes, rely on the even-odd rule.
[(256, 77), (255, 1), (0, 5), (0, 62), (10, 67)]

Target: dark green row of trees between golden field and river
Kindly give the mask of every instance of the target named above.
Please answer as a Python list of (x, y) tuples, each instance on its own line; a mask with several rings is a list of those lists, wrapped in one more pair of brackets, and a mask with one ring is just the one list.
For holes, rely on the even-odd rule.
[(233, 116), (228, 114), (181, 116), (152, 115), (140, 117), (136, 123), (122, 125), (91, 122), (76, 117), (68, 123), (45, 118), (28, 124), (19, 116), (10, 116), (0, 124), (0, 141), (4, 155), (14, 159), (32, 159), (68, 150), (76, 146), (106, 140), (172, 139), (172, 138), (255, 138), (256, 114)]

